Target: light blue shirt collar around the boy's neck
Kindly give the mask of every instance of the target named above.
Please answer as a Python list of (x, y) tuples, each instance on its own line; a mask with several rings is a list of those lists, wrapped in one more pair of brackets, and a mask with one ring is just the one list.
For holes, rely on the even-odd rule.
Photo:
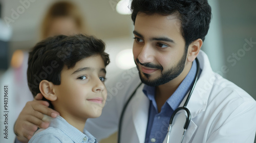
[(56, 118), (52, 119), (50, 126), (60, 129), (74, 142), (97, 142), (96, 138), (92, 134), (90, 134), (86, 129), (83, 129), (82, 133), (81, 131), (70, 125), (64, 118), (62, 118), (59, 115)]

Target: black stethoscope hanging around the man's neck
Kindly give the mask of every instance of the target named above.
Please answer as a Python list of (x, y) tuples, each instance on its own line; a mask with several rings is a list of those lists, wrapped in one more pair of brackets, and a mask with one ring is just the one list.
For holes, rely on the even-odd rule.
[[(169, 143), (170, 131), (171, 131), (172, 126), (173, 126), (174, 117), (175, 117), (175, 115), (176, 115), (179, 111), (184, 110), (184, 111), (186, 112), (186, 114), (187, 114), (187, 116), (186, 116), (186, 122), (185, 122), (185, 124), (184, 124), (184, 126), (183, 126), (184, 131), (183, 131), (182, 138), (181, 138), (181, 141), (180, 141), (180, 142), (183, 141), (184, 135), (185, 135), (186, 130), (187, 130), (188, 126), (189, 126), (190, 119), (191, 119), (191, 114), (190, 114), (190, 111), (186, 108), (186, 106), (187, 106), (187, 103), (188, 103), (188, 101), (189, 101), (189, 99), (190, 99), (190, 97), (191, 97), (191, 94), (193, 93), (193, 90), (194, 90), (194, 88), (195, 88), (195, 86), (196, 86), (197, 80), (198, 80), (199, 75), (200, 75), (200, 65), (199, 65), (199, 61), (198, 61), (197, 58), (196, 58), (196, 62), (197, 62), (197, 73), (196, 73), (196, 76), (195, 76), (195, 79), (194, 79), (193, 86), (192, 86), (192, 88), (191, 88), (191, 90), (189, 91), (189, 94), (188, 94), (188, 96), (187, 96), (187, 99), (186, 99), (184, 105), (183, 105), (182, 107), (177, 108), (177, 109), (173, 112), (172, 116), (170, 117), (170, 122), (169, 122), (168, 132), (167, 132), (167, 143)], [(131, 99), (134, 97), (134, 95), (135, 95), (137, 89), (140, 87), (141, 84), (142, 84), (142, 83), (140, 83), (140, 84), (136, 87), (136, 89), (135, 89), (135, 90), (133, 91), (133, 93), (131, 94), (130, 98), (126, 101), (126, 103), (125, 103), (124, 106), (123, 106), (123, 109), (122, 109), (122, 112), (121, 112), (121, 116), (120, 116), (120, 119), (119, 119), (119, 125), (118, 125), (118, 139), (117, 139), (118, 143), (120, 143), (120, 140), (121, 140), (121, 139), (120, 139), (120, 138), (121, 138), (121, 128), (122, 128), (122, 121), (123, 121), (124, 112), (125, 112), (125, 110), (126, 110), (126, 108), (127, 108), (127, 105), (130, 103)]]

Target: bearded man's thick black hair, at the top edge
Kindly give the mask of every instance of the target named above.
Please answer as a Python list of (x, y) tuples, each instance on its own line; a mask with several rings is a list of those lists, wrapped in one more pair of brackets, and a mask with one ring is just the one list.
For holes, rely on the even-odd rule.
[(204, 40), (211, 19), (211, 7), (207, 0), (133, 0), (132, 20), (138, 12), (145, 14), (170, 15), (178, 12), (185, 47), (198, 38)]

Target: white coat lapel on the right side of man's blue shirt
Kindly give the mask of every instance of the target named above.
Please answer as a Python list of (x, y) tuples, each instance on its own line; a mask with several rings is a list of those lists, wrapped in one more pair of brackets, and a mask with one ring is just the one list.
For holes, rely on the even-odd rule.
[[(193, 122), (193, 118), (195, 118), (198, 114), (205, 111), (205, 108), (207, 106), (207, 101), (209, 98), (210, 90), (209, 88), (212, 87), (213, 81), (215, 80), (214, 73), (212, 72), (210, 66), (209, 60), (207, 58), (207, 55), (200, 51), (198, 55), (198, 60), (200, 63), (200, 68), (203, 69), (202, 73), (196, 83), (195, 89), (193, 93), (191, 94), (191, 97), (189, 99), (189, 102), (187, 104), (187, 108), (189, 109), (191, 113), (191, 120), (188, 126), (188, 129), (186, 130), (186, 134), (184, 136), (183, 142), (189, 142), (191, 138), (193, 137), (193, 134), (197, 130), (197, 125)], [(209, 70), (206, 70), (209, 69)], [(179, 107), (182, 107), (187, 99), (188, 93), (186, 97), (183, 99)], [(199, 100), (200, 99), (200, 100)], [(185, 113), (185, 111), (182, 111)], [(185, 113), (186, 114), (186, 113)], [(165, 138), (166, 142), (167, 137)], [(170, 139), (172, 142), (180, 142), (180, 138), (177, 138), (177, 141), (173, 139)]]

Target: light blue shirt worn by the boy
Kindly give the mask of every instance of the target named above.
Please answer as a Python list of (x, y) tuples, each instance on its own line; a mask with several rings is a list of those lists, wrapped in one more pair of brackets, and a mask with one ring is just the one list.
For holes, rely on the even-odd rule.
[(58, 143), (58, 142), (75, 142), (75, 143), (96, 143), (96, 138), (87, 130), (83, 133), (70, 125), (64, 118), (57, 116), (51, 120), (50, 127), (37, 131), (30, 142)]

